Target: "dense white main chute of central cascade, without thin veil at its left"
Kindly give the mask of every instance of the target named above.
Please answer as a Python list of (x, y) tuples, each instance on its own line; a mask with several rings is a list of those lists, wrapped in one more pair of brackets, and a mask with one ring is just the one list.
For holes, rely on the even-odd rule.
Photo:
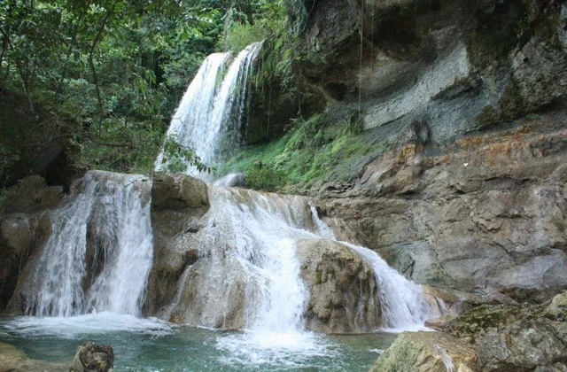
[(205, 244), (210, 251), (204, 254), (211, 254), (214, 262), (236, 259), (254, 283), (246, 292), (245, 328), (282, 333), (303, 329), (307, 290), (299, 277), (295, 240), (312, 236), (301, 229), (310, 217), (302, 213), (305, 200), (213, 188), (210, 202), (214, 207)]

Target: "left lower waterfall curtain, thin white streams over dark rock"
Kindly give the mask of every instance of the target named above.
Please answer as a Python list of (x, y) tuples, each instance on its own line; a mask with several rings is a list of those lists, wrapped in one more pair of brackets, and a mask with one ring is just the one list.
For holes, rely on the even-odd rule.
[(74, 185), (25, 283), (27, 314), (139, 315), (153, 260), (150, 189), (144, 176), (97, 171)]

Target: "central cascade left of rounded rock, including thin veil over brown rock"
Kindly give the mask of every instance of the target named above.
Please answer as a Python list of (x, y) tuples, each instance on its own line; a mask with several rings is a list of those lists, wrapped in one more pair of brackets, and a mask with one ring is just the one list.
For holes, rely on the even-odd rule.
[[(174, 312), (184, 322), (212, 328), (303, 329), (307, 290), (295, 241), (313, 236), (303, 230), (310, 220), (303, 212), (307, 201), (222, 187), (210, 187), (209, 200), (200, 244), (204, 258), (190, 268), (199, 279), (183, 275), (180, 283), (179, 291), (194, 293), (193, 299)], [(227, 321), (235, 308), (237, 316)]]

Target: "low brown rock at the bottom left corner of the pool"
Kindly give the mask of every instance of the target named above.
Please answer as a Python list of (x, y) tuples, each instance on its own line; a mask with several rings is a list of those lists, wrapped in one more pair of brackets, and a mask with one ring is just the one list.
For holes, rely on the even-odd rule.
[(67, 371), (68, 366), (42, 360), (32, 360), (12, 345), (0, 342), (0, 372)]

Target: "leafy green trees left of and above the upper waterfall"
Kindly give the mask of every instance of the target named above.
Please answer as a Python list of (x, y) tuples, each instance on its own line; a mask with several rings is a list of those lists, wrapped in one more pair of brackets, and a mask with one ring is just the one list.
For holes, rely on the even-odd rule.
[(0, 182), (59, 138), (78, 167), (150, 171), (206, 55), (284, 35), (284, 9), (268, 0), (0, 3)]

